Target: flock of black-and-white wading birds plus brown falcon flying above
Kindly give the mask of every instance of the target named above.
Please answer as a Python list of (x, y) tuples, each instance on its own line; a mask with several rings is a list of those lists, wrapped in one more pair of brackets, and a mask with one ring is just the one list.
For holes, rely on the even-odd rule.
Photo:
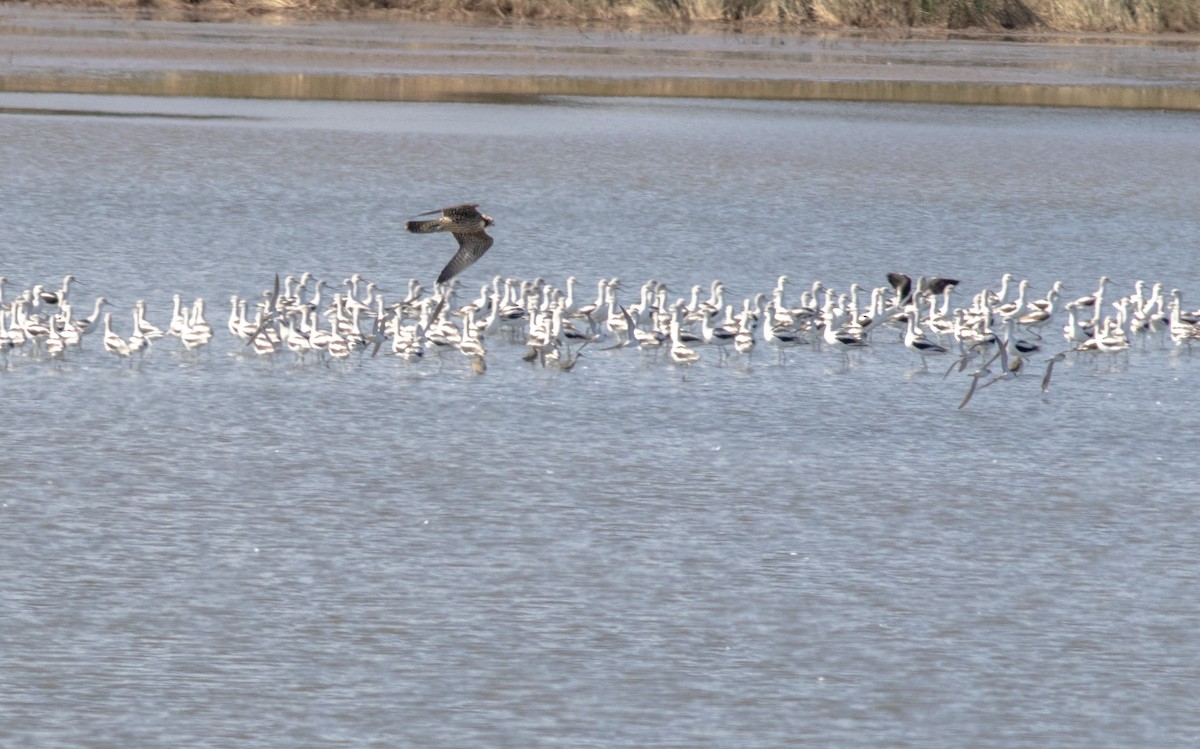
[[(282, 282), (276, 275), (272, 288), (253, 307), (250, 299), (230, 296), (226, 328), (244, 342), (244, 349), (260, 356), (287, 350), (298, 362), (311, 356), (328, 364), (355, 354), (388, 353), (415, 360), (431, 349), (439, 355), (454, 350), (480, 373), (487, 368), (485, 341), (496, 337), (523, 343), (526, 361), (565, 371), (593, 344), (602, 350), (654, 352), (689, 367), (702, 350), (714, 352), (718, 362), (734, 355), (750, 358), (760, 342), (774, 348), (780, 362), (786, 362), (790, 349), (823, 348), (839, 352), (848, 368), (853, 352), (890, 337), (918, 356), (923, 370), (930, 358), (949, 359), (943, 378), (970, 370), (959, 408), (978, 391), (1024, 372), (1057, 337), (1055, 328), (1066, 348), (1057, 344), (1061, 350), (1043, 360), (1043, 390), (1050, 387), (1055, 364), (1070, 355), (1121, 354), (1138, 336), (1163, 341), (1169, 336), (1175, 346), (1200, 340), (1200, 310), (1184, 310), (1178, 289), (1164, 293), (1162, 283), (1147, 288), (1138, 281), (1130, 294), (1118, 296), (1110, 293), (1108, 277), (1100, 278), (1093, 293), (1067, 300), (1061, 282), (1033, 298), (1028, 281), (1014, 287), (1014, 277), (1006, 274), (998, 288), (982, 289), (968, 305), (952, 307), (956, 280), (900, 272), (888, 274), (887, 284), (870, 292), (852, 284), (847, 293), (838, 293), (815, 282), (794, 300), (787, 299), (787, 276), (780, 276), (770, 292), (740, 304), (725, 298), (727, 289), (719, 280), (708, 287), (707, 298), (704, 287), (694, 286), (690, 299), (672, 300), (671, 290), (652, 280), (641, 286), (636, 299), (622, 301), (624, 287), (618, 278), (599, 280), (595, 298), (586, 299), (577, 294), (575, 277), (558, 288), (542, 278), (496, 276), (458, 305), (454, 301), (457, 276), (492, 246), (486, 229), (494, 221), (474, 203), (430, 211), (438, 212), (438, 218), (407, 223), (414, 234), (448, 232), (458, 242), (433, 294), (426, 294), (415, 278), (409, 280), (403, 299), (389, 301), (376, 283), (359, 275), (338, 287), (310, 272), (289, 275)], [(90, 314), (76, 316), (70, 298), (73, 282), (68, 275), (58, 289), (37, 284), (5, 301), (7, 282), (0, 277), (0, 352), (6, 368), (14, 353), (61, 360), (101, 326), (104, 350), (131, 361), (168, 336), (178, 337), (188, 355), (214, 337), (204, 300), (185, 305), (180, 294), (174, 295), (166, 329), (146, 318), (145, 302), (138, 300), (132, 332), (125, 337), (114, 330), (104, 296), (95, 299)]]

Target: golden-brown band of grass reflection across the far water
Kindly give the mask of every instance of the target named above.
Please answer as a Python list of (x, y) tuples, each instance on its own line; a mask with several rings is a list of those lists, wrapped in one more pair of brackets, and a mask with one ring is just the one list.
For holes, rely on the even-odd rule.
[(0, 76), (0, 91), (328, 101), (536, 103), (553, 96), (875, 101), (1117, 109), (1200, 109), (1200, 90), (914, 80), (739, 80), (709, 77), (352, 76), (166, 71), (120, 76)]

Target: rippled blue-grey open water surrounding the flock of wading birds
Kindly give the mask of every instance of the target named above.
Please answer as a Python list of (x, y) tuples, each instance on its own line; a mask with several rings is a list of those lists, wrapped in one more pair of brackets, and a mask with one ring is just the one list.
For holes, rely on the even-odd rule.
[[(956, 406), (892, 336), (842, 366), (497, 341), (271, 364), (222, 328), (275, 272), (734, 298), (779, 274), (1106, 274), (1200, 299), (1200, 121), (1154, 112), (564, 98), (2, 95), (17, 289), (209, 300), (196, 360), (98, 340), (0, 372), (0, 743), (1194, 747), (1200, 358), (1151, 342)], [(76, 114), (30, 114), (28, 110)], [(96, 116), (80, 112), (134, 116)], [(212, 119), (216, 118), (216, 119)], [(12, 288), (10, 288), (10, 293)], [(626, 295), (630, 292), (626, 292)], [(798, 293), (798, 292), (797, 292)], [(1040, 362), (1040, 358), (1036, 359)]]

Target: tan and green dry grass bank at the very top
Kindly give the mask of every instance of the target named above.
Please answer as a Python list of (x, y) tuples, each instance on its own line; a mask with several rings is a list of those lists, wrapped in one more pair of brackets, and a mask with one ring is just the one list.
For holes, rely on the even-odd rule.
[[(36, 2), (35, 2), (36, 4)], [(68, 0), (193, 17), (386, 13), (443, 20), (750, 28), (1196, 32), (1200, 0)]]

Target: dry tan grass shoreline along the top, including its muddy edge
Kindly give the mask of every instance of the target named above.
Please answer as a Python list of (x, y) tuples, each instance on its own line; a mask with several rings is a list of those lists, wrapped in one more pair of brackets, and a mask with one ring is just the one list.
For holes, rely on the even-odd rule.
[(838, 31), (901, 38), (1200, 34), (1195, 0), (0, 0), (5, 6), (212, 23), (390, 19), (612, 30)]

